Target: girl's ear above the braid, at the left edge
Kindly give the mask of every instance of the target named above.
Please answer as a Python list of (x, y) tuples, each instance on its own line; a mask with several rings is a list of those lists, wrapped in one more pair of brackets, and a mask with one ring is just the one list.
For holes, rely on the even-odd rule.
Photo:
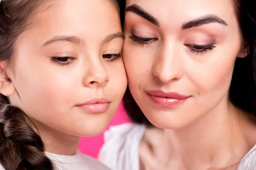
[(15, 93), (15, 86), (7, 74), (7, 61), (0, 62), (0, 94), (11, 96)]

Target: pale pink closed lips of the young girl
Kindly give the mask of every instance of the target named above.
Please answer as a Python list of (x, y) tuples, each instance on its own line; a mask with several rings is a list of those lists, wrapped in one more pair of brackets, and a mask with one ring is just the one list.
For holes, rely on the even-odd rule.
[(76, 106), (89, 113), (103, 113), (107, 111), (109, 104), (110, 101), (106, 98), (96, 98)]

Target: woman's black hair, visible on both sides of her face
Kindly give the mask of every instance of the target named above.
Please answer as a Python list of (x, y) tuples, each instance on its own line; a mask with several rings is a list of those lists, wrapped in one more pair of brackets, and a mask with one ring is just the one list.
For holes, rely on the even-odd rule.
[[(231, 1), (233, 1), (244, 40), (247, 40), (250, 47), (250, 54), (246, 58), (236, 60), (230, 85), (230, 101), (256, 116), (256, 2), (254, 0)], [(120, 7), (123, 23), (125, 0), (120, 0)], [(152, 126), (135, 102), (129, 88), (125, 92), (123, 103), (131, 121)]]

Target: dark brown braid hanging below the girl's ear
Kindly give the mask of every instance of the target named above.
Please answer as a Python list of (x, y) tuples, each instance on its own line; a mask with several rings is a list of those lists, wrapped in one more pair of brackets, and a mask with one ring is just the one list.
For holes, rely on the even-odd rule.
[(41, 137), (26, 123), (24, 115), (19, 108), (2, 102), (0, 163), (6, 170), (53, 170)]

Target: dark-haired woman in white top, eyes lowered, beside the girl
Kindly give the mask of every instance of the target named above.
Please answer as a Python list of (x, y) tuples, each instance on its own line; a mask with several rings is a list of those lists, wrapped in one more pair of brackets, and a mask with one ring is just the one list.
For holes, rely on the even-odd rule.
[(255, 0), (126, 1), (124, 104), (137, 124), (105, 134), (105, 164), (256, 170), (255, 8)]

